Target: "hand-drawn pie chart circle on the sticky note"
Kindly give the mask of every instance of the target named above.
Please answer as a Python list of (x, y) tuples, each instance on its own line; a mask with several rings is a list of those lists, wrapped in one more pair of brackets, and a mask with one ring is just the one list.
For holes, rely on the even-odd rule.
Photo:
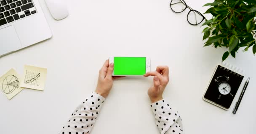
[(18, 80), (18, 78), (16, 76), (14, 76), (14, 75), (8, 75), (3, 80), (2, 88), (3, 88), (3, 92), (6, 93), (6, 94), (13, 93), (13, 91), (16, 88), (19, 88), (19, 80)]

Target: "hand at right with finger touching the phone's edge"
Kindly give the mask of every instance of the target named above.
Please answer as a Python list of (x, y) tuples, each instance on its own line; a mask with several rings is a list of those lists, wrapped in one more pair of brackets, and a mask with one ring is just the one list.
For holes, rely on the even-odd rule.
[(144, 77), (154, 76), (154, 86), (149, 88), (148, 95), (152, 103), (163, 99), (163, 91), (169, 82), (169, 67), (158, 66), (156, 71), (147, 72)]

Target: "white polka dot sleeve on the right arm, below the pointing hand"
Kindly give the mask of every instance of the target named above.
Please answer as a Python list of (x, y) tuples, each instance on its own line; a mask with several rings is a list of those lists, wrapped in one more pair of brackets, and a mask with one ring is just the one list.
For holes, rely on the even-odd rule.
[(157, 101), (150, 106), (160, 134), (183, 134), (181, 116), (165, 100)]

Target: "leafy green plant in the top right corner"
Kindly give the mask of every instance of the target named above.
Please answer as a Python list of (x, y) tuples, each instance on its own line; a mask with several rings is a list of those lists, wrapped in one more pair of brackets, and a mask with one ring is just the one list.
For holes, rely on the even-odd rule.
[(222, 61), (229, 54), (235, 58), (240, 48), (248, 51), (253, 46), (256, 53), (256, 0), (214, 0), (204, 6), (210, 6), (205, 13), (213, 16), (202, 25), (207, 26), (203, 29), (203, 40), (208, 39), (204, 46), (226, 47)]

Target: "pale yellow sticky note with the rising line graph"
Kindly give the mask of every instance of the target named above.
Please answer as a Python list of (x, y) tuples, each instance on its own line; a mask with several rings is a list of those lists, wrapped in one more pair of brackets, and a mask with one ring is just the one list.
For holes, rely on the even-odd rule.
[(43, 91), (45, 88), (47, 69), (25, 65), (21, 87)]

